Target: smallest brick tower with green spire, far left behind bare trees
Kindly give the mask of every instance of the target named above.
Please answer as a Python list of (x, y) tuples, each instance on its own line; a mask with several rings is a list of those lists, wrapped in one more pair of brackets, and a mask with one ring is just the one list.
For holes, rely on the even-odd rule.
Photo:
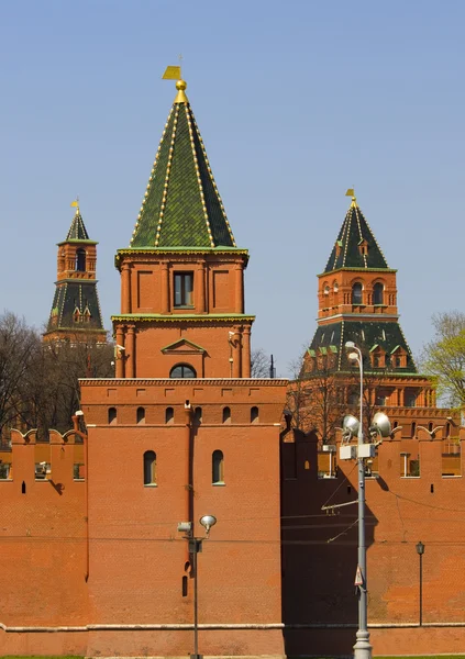
[(97, 292), (97, 245), (89, 238), (78, 202), (66, 239), (58, 243), (55, 297), (44, 340), (107, 340)]

